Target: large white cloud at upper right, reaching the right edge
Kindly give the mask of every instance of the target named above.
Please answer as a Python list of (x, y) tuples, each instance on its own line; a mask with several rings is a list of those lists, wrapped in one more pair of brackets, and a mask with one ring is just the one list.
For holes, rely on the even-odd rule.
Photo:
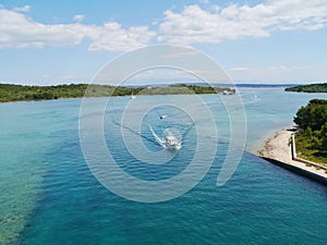
[(267, 37), (276, 30), (314, 30), (327, 26), (326, 0), (272, 0), (253, 7), (230, 4), (167, 10), (158, 40), (172, 44), (218, 44), (223, 39)]

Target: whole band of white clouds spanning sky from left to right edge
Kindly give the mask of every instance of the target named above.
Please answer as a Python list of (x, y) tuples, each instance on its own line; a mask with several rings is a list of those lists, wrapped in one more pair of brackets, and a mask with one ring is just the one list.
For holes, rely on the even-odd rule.
[[(256, 5), (206, 3), (167, 10), (153, 30), (148, 26), (125, 27), (118, 22), (83, 24), (84, 15), (70, 24), (43, 24), (27, 17), (29, 5), (8, 10), (0, 7), (0, 49), (44, 46), (76, 46), (90, 41), (90, 51), (125, 51), (154, 42), (179, 45), (219, 44), (223, 40), (263, 38), (274, 32), (315, 30), (327, 26), (326, 0), (271, 0)], [(154, 26), (152, 26), (154, 28)]]

